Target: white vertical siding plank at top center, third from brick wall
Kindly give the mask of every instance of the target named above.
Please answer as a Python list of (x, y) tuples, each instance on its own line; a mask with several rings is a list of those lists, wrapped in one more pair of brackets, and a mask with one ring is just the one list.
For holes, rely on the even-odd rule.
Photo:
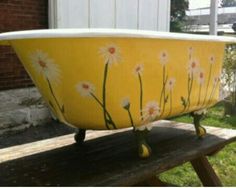
[(138, 0), (116, 1), (116, 28), (138, 29)]

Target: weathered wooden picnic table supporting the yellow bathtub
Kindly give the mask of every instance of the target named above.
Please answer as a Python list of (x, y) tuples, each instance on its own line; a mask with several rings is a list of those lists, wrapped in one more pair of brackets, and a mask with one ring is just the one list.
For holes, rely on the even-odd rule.
[(130, 129), (90, 131), (83, 147), (65, 135), (0, 150), (0, 186), (165, 185), (156, 175), (190, 161), (205, 186), (221, 182), (206, 156), (236, 140), (236, 130), (160, 121), (149, 135), (149, 159), (139, 159)]

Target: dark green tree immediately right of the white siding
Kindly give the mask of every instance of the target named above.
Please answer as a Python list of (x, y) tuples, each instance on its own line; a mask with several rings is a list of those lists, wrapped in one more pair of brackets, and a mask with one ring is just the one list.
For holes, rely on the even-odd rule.
[(170, 31), (181, 32), (185, 23), (185, 11), (188, 10), (188, 0), (171, 0)]

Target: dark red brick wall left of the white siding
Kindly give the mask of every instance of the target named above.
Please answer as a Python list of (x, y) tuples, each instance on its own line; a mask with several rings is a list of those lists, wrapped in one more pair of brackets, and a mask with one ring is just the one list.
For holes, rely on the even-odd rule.
[[(48, 0), (1, 0), (0, 33), (48, 28)], [(0, 90), (31, 86), (13, 49), (0, 46)]]

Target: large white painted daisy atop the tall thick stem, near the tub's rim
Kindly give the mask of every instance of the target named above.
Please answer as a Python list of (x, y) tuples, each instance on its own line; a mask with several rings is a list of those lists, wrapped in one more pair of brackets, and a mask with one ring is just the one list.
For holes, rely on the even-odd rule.
[(121, 60), (120, 49), (114, 44), (100, 48), (99, 54), (104, 58), (106, 64), (118, 63)]

